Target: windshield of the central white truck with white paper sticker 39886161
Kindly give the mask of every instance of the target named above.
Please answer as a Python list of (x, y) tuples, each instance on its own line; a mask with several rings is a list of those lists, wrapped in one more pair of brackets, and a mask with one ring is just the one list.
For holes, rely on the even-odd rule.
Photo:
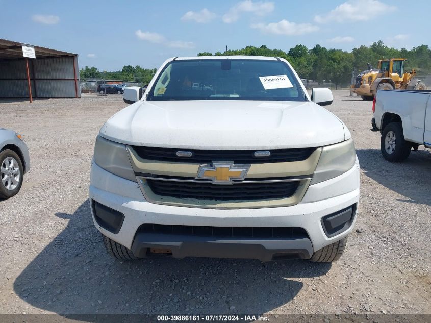
[(286, 63), (251, 59), (172, 61), (147, 100), (307, 101)]

